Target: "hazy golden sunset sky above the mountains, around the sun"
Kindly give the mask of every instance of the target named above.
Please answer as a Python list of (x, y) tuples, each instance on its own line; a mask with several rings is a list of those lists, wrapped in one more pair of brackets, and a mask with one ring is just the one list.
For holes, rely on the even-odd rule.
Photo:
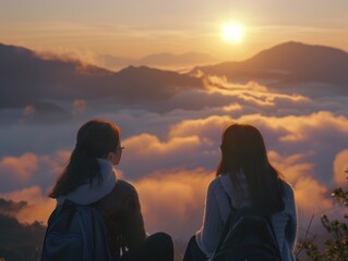
[[(244, 60), (289, 40), (348, 50), (345, 0), (1, 0), (0, 4), (0, 42), (77, 53), (86, 60), (189, 51)], [(240, 42), (224, 39), (225, 24), (242, 26)]]

